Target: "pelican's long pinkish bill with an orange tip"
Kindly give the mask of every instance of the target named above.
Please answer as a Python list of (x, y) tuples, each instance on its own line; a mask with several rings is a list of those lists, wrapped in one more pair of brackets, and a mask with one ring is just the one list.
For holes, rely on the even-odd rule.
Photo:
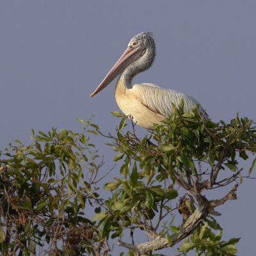
[(97, 94), (108, 86), (108, 84), (111, 83), (121, 72), (123, 72), (126, 67), (128, 67), (132, 62), (138, 60), (142, 53), (143, 51), (139, 47), (135, 49), (128, 47), (119, 60), (116, 61), (113, 68), (111, 68), (111, 70), (108, 72), (107, 76), (99, 84), (97, 89), (90, 95), (90, 97), (93, 97), (93, 95)]

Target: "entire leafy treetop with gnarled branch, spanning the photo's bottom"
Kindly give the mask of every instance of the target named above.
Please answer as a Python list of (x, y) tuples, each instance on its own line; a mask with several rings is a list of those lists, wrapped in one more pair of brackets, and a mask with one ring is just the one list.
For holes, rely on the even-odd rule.
[[(118, 237), (128, 255), (161, 255), (156, 251), (180, 241), (179, 255), (189, 250), (196, 255), (235, 255), (239, 238), (223, 241), (213, 216), (220, 215), (218, 205), (236, 199), (244, 177), (250, 178), (256, 158), (250, 170), (239, 168), (238, 160), (256, 152), (252, 120), (237, 115), (230, 124), (216, 124), (205, 120), (198, 106), (184, 113), (180, 102), (149, 138), (140, 139), (133, 123), (132, 131), (124, 132), (128, 116), (113, 114), (122, 117), (115, 136), (80, 120), (81, 133), (33, 132), (31, 145), (16, 140), (4, 148), (1, 253), (111, 255), (109, 239)], [(113, 160), (122, 166), (114, 180), (108, 173), (99, 177), (103, 161), (90, 143), (90, 133), (107, 137), (118, 152)], [(102, 179), (106, 184), (99, 189)], [(207, 198), (212, 189), (224, 186), (231, 186), (227, 195)], [(137, 243), (137, 232), (150, 241)]]

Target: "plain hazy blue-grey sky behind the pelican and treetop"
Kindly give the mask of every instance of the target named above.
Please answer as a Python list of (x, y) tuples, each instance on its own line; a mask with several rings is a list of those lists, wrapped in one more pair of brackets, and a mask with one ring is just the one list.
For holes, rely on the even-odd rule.
[[(255, 13), (253, 0), (1, 1), (0, 147), (11, 138), (29, 143), (31, 128), (81, 131), (76, 118), (92, 114), (102, 131), (115, 132), (115, 82), (90, 93), (142, 31), (154, 33), (157, 57), (134, 83), (187, 93), (216, 122), (236, 113), (256, 120)], [(109, 141), (92, 142), (108, 170), (115, 155), (103, 145)], [(255, 255), (255, 193), (255, 180), (244, 180), (238, 200), (216, 209), (224, 237), (242, 237), (238, 255)]]

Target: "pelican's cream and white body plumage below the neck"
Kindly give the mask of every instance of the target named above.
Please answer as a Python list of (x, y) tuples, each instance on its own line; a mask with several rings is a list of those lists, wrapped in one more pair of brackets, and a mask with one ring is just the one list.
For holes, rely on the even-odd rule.
[[(156, 84), (134, 84), (132, 88), (120, 90), (120, 83), (116, 84), (116, 103), (125, 115), (131, 115), (134, 122), (146, 129), (152, 129), (154, 124), (161, 124), (172, 115), (172, 103), (178, 107), (180, 99), (184, 101), (185, 112), (198, 104), (197, 100), (185, 93), (164, 89)], [(204, 112), (201, 106), (199, 110)]]

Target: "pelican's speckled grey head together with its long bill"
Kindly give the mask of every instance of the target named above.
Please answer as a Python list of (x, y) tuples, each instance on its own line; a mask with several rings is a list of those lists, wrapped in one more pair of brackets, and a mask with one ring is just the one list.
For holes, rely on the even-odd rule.
[[(152, 46), (155, 47), (153, 33), (142, 32), (132, 37), (125, 52), (122, 54), (119, 60), (116, 61), (113, 68), (111, 68), (107, 76), (102, 80), (102, 82), (99, 84), (97, 89), (90, 95), (90, 97), (93, 97), (93, 95), (97, 94), (106, 86), (108, 86), (108, 84), (111, 83), (116, 78), (116, 76), (122, 73), (126, 67), (131, 65), (131, 63), (134, 63), (135, 61), (140, 59), (141, 56), (143, 56)], [(152, 58), (154, 58), (154, 56)]]

